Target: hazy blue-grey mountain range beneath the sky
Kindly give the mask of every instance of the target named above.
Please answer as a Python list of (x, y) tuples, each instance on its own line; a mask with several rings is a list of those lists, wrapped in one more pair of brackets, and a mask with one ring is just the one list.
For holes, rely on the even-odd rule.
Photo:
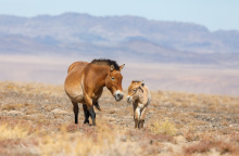
[(93, 55), (134, 62), (239, 66), (239, 31), (210, 31), (197, 24), (137, 16), (0, 15), (0, 54)]

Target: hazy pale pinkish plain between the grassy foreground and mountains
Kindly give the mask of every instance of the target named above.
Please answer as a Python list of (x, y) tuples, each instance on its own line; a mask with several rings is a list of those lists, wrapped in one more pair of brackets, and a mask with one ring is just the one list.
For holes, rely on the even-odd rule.
[[(55, 55), (0, 55), (0, 80), (62, 84), (67, 67), (73, 62), (90, 62), (93, 58)], [(147, 86), (154, 91), (239, 95), (238, 65), (160, 64), (134, 60), (117, 60), (117, 63), (126, 64), (122, 72), (124, 89), (127, 89), (131, 80), (138, 79), (144, 80)]]

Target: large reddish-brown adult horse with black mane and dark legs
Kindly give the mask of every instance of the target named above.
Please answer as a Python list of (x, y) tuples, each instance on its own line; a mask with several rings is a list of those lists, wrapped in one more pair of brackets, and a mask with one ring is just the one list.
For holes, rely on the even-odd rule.
[(93, 60), (91, 63), (75, 62), (68, 67), (64, 88), (73, 104), (75, 123), (78, 123), (78, 103), (81, 103), (84, 123), (89, 123), (90, 116), (92, 125), (96, 126), (93, 105), (100, 110), (98, 100), (104, 87), (111, 91), (116, 101), (123, 99), (121, 70), (124, 66), (118, 66), (111, 60)]

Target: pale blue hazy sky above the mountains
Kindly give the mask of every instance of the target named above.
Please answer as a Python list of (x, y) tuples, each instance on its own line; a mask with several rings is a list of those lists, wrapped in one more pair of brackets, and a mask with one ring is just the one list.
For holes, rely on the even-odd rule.
[(239, 30), (239, 0), (0, 0), (0, 14), (30, 17), (65, 12), (136, 15), (201, 24), (210, 30)]

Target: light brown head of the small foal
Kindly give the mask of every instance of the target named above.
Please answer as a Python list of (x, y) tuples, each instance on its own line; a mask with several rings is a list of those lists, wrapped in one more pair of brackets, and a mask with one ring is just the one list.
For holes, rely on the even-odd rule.
[(141, 92), (143, 92), (142, 87), (144, 86), (143, 81), (133, 80), (128, 87), (127, 102), (135, 102), (139, 99)]

